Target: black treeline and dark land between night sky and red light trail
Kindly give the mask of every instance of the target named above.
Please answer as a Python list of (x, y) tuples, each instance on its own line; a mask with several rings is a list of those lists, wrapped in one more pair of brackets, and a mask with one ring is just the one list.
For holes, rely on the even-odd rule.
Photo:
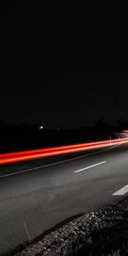
[(0, 152), (19, 151), (30, 148), (47, 148), (73, 143), (85, 143), (117, 137), (117, 133), (128, 129), (128, 120), (119, 119), (110, 125), (99, 119), (94, 125), (73, 130), (39, 129), (40, 125), (12, 125), (0, 122)]

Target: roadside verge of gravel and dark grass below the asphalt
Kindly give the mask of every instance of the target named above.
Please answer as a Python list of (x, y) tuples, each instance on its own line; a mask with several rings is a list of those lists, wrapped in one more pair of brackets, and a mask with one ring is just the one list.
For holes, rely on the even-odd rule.
[(108, 255), (112, 252), (126, 255), (127, 249), (128, 197), (125, 197), (117, 205), (65, 220), (6, 255)]

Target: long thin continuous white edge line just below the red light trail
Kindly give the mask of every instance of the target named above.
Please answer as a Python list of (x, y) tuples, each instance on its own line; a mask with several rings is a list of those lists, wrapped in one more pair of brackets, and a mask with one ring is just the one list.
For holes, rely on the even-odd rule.
[(31, 172), (33, 170), (37, 170), (37, 169), (42, 169), (42, 168), (45, 168), (45, 167), (49, 167), (49, 166), (55, 166), (55, 165), (59, 165), (59, 164), (63, 164), (63, 163), (66, 163), (66, 162), (69, 162), (69, 161), (73, 161), (73, 160), (77, 160), (77, 159), (81, 159), (81, 158), (84, 158), (86, 156), (89, 156), (89, 155), (93, 155), (93, 154), (100, 154), (104, 151), (108, 151), (108, 150), (111, 150), (113, 148), (117, 148), (121, 145), (122, 143), (119, 143), (118, 145), (115, 145), (111, 148), (106, 148), (106, 149), (102, 149), (102, 150), (99, 150), (97, 152), (93, 152), (93, 153), (90, 153), (90, 154), (84, 154), (84, 155), (80, 155), (80, 156), (77, 156), (77, 157), (74, 157), (74, 158), (70, 158), (70, 159), (67, 159), (67, 160), (62, 160), (62, 161), (58, 161), (58, 162), (55, 162), (55, 163), (52, 163), (52, 164), (48, 164), (48, 165), (45, 165), (45, 166), (38, 166), (38, 167), (33, 167), (33, 168), (30, 168), (30, 169), (26, 169), (26, 170), (23, 170), (23, 171), (20, 171), (20, 172), (13, 172), (13, 173), (9, 173), (9, 174), (5, 174), (3, 176), (0, 176), (0, 178), (3, 178), (3, 177), (9, 177), (9, 176), (14, 176), (16, 174), (20, 174), (20, 173), (24, 173), (24, 172)]

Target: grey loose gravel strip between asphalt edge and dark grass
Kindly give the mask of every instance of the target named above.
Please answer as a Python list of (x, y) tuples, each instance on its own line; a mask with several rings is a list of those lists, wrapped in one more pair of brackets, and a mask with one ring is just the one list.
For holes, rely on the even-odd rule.
[[(102, 239), (104, 234), (108, 234), (108, 230), (110, 231), (109, 233), (112, 234), (112, 229), (113, 231), (116, 230), (115, 227), (119, 227), (124, 219), (127, 219), (127, 217), (125, 217), (128, 215), (127, 212), (127, 207), (118, 206), (84, 214), (62, 225), (55, 231), (50, 232), (48, 235), (45, 235), (40, 241), (29, 241), (22, 251), (14, 253), (13, 255), (76, 255), (75, 253), (78, 253), (81, 249), (83, 250), (83, 248), (87, 249), (91, 247), (92, 250), (94, 241), (96, 243), (95, 246), (99, 243), (99, 241), (96, 241), (97, 235)], [(107, 238), (104, 237), (104, 239), (106, 240)], [(112, 237), (110, 240), (112, 241)]]

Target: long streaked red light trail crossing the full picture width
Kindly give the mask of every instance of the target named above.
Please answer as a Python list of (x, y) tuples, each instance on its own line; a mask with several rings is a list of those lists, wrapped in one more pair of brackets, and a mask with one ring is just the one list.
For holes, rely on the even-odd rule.
[(128, 143), (128, 138), (0, 154), (0, 164), (3, 165), (17, 161), (34, 160), (42, 157), (49, 157), (59, 154), (68, 154), (73, 152), (85, 151), (89, 149), (104, 148), (112, 145), (118, 145), (119, 143)]

